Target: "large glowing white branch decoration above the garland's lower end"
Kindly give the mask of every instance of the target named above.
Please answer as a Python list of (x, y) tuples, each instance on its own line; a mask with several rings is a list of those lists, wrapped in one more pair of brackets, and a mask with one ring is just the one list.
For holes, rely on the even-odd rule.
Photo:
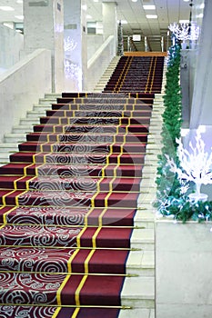
[(181, 140), (177, 139), (177, 144), (181, 168), (177, 167), (173, 158), (166, 155), (170, 171), (177, 173), (180, 180), (193, 181), (197, 187), (197, 194), (200, 194), (201, 184), (212, 184), (212, 152), (205, 152), (205, 144), (199, 132), (196, 136), (196, 146), (189, 143), (191, 152), (183, 147)]

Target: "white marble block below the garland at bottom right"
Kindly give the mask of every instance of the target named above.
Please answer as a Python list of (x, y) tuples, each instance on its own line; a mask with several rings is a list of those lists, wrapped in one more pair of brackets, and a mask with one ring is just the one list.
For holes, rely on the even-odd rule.
[(156, 222), (156, 318), (211, 318), (211, 226)]

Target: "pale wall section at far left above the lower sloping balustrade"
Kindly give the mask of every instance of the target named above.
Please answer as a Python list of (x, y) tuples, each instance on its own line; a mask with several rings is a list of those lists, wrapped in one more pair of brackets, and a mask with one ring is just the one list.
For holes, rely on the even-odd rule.
[(24, 36), (0, 25), (0, 74), (20, 60), (24, 48)]

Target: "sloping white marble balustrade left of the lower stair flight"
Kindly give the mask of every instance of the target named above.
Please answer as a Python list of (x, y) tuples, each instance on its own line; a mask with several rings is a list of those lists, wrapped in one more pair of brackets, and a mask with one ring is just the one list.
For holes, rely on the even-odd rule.
[(45, 93), (51, 93), (51, 51), (39, 49), (0, 75), (0, 140)]

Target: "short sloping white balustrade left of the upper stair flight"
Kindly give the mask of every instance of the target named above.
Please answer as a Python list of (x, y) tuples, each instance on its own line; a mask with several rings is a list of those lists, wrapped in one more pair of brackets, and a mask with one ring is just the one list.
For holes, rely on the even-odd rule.
[(110, 35), (106, 42), (99, 47), (96, 54), (89, 59), (87, 63), (87, 79), (86, 91), (93, 92), (94, 87), (98, 83), (100, 77), (106, 71), (107, 66), (110, 64), (112, 58), (116, 55), (115, 38)]

